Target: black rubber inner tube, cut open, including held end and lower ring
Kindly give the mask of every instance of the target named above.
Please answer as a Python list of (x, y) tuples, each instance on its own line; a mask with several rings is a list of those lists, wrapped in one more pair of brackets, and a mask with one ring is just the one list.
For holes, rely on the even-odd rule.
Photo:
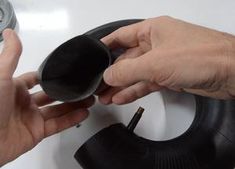
[[(39, 68), (42, 88), (62, 101), (93, 94), (104, 69), (116, 57), (99, 40), (140, 21), (109, 23), (62, 44)], [(92, 57), (94, 54), (100, 57)], [(195, 99), (196, 117), (191, 127), (175, 139), (151, 141), (123, 124), (114, 124), (89, 139), (75, 158), (84, 169), (233, 169), (235, 101), (201, 96)]]

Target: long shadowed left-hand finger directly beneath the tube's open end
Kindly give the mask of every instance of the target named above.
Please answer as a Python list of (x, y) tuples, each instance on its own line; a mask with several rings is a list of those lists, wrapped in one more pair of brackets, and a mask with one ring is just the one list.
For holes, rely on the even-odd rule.
[(90, 97), (80, 102), (62, 103), (59, 105), (48, 106), (41, 109), (41, 114), (46, 121), (51, 118), (63, 116), (66, 113), (75, 111), (80, 108), (88, 108), (94, 104), (94, 101), (94, 97)]

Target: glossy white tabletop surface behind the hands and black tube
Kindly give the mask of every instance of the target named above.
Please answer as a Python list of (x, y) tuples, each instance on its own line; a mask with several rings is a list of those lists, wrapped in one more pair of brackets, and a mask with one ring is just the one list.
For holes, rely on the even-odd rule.
[[(170, 15), (235, 34), (234, 0), (11, 0), (24, 51), (15, 75), (37, 70), (64, 41), (110, 21)], [(172, 28), (174, 29), (174, 28)], [(193, 40), (193, 39), (192, 39)], [(2, 46), (2, 44), (0, 45)], [(39, 88), (35, 89), (39, 90)], [(192, 96), (153, 93), (126, 106), (96, 105), (82, 126), (41, 142), (3, 169), (81, 169), (73, 159), (88, 138), (114, 122), (125, 124), (139, 106), (146, 111), (137, 128), (141, 136), (166, 140), (182, 134), (194, 117)]]

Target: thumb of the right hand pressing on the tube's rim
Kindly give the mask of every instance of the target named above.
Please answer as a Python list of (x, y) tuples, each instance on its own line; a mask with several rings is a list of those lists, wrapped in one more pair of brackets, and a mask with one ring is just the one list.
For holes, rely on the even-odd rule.
[(110, 86), (130, 86), (139, 81), (150, 79), (148, 53), (138, 58), (123, 59), (104, 72), (104, 81)]

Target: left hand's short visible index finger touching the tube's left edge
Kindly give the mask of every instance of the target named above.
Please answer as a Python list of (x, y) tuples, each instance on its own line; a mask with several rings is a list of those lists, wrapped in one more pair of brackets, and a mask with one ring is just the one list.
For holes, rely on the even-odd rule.
[(28, 89), (32, 89), (35, 85), (39, 83), (37, 73), (36, 72), (29, 72), (25, 73), (16, 78), (17, 80), (23, 81)]

